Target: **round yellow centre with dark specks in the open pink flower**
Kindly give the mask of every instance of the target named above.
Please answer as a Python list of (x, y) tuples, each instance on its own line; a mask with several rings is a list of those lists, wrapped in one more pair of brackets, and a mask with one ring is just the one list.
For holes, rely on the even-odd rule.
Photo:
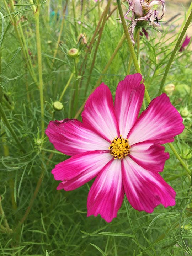
[(111, 145), (109, 147), (111, 155), (114, 156), (114, 159), (123, 159), (130, 153), (130, 146), (128, 143), (128, 139), (124, 139), (121, 137), (115, 137), (113, 141), (111, 141)]

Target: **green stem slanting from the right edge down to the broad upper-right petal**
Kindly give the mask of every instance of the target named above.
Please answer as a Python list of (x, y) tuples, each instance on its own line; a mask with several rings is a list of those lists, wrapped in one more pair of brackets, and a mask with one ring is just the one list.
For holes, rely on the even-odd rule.
[(178, 48), (180, 47), (181, 41), (182, 41), (182, 39), (183, 39), (183, 37), (185, 35), (185, 32), (187, 31), (188, 26), (191, 23), (191, 20), (192, 20), (192, 12), (190, 13), (190, 15), (189, 15), (189, 17), (187, 19), (187, 22), (185, 23), (185, 26), (183, 27), (183, 30), (182, 30), (182, 32), (180, 34), (180, 37), (178, 38), (178, 41), (177, 41), (177, 43), (176, 43), (176, 45), (175, 45), (175, 47), (174, 47), (174, 49), (172, 51), (171, 57), (169, 59), (169, 62), (167, 63), (167, 66), (166, 66), (166, 69), (165, 69), (165, 73), (164, 73), (164, 76), (162, 78), (161, 85), (160, 85), (160, 88), (159, 88), (158, 95), (160, 95), (161, 92), (162, 92), (162, 88), (163, 88), (163, 86), (165, 84), (165, 80), (167, 78), (167, 74), (169, 73), (169, 69), (171, 67), (171, 63), (172, 63), (172, 61), (173, 61), (173, 59), (175, 57), (175, 54), (176, 54)]

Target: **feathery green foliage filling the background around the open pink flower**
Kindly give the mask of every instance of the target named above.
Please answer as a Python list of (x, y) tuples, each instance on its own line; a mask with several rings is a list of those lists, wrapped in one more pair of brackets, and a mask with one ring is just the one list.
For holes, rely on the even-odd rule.
[[(105, 2), (92, 0), (87, 4), (87, 1), (76, 0), (73, 10), (70, 1), (41, 1), (42, 118), (36, 21), (31, 9), (34, 5), (29, 0), (20, 0), (11, 10), (11, 2), (0, 3), (0, 103), (26, 153), (21, 151), (5, 121), (0, 118), (0, 195), (4, 210), (4, 214), (0, 212), (0, 255), (192, 255), (191, 184), (185, 169), (167, 145), (170, 159), (166, 161), (162, 176), (177, 192), (176, 205), (158, 206), (151, 214), (134, 210), (126, 199), (111, 223), (100, 216), (87, 218), (86, 200), (92, 181), (75, 191), (57, 191), (58, 181), (51, 174), (55, 164), (68, 157), (54, 151), (41, 130), (41, 123), (44, 122), (46, 127), (52, 119), (74, 118), (101, 75), (114, 96), (118, 82), (127, 74), (130, 53), (126, 41), (103, 74), (123, 34), (118, 12), (114, 11), (105, 21), (90, 74), (101, 30), (97, 31), (90, 52), (87, 52), (87, 47)], [(115, 6), (111, 4), (110, 11)], [(100, 7), (102, 9), (98, 9)], [(140, 37), (139, 62), (149, 95), (154, 98), (178, 33), (174, 21), (161, 23), (161, 33), (151, 27), (146, 29), (149, 39)], [(78, 42), (80, 33), (86, 36), (87, 44)], [(71, 48), (79, 50), (75, 62), (68, 55)], [(137, 53), (137, 45), (135, 51)], [(191, 63), (190, 47), (177, 52), (165, 82), (165, 85), (175, 85), (169, 96), (178, 111), (191, 109)], [(130, 74), (133, 73), (132, 64)], [(53, 108), (53, 102), (58, 100), (63, 104), (61, 111)], [(176, 138), (174, 146), (185, 164), (191, 167), (191, 112), (184, 118), (184, 124), (186, 129)], [(36, 188), (38, 193), (34, 196)]]

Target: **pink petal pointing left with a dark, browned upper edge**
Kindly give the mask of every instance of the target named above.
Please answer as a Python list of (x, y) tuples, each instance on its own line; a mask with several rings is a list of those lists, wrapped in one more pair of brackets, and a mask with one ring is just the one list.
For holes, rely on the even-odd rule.
[(50, 121), (46, 129), (54, 147), (66, 155), (92, 150), (108, 150), (109, 143), (76, 119)]

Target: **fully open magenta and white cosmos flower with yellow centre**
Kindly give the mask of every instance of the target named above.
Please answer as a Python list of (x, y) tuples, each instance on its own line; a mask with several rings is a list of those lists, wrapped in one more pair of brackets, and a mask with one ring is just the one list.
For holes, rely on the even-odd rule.
[(117, 216), (124, 194), (132, 207), (153, 212), (159, 204), (175, 205), (175, 191), (161, 177), (172, 142), (184, 126), (182, 117), (162, 94), (140, 116), (144, 85), (140, 74), (119, 82), (115, 101), (102, 83), (89, 96), (82, 122), (50, 121), (46, 134), (55, 149), (71, 156), (52, 170), (62, 181), (58, 190), (74, 190), (96, 177), (87, 199), (87, 216), (107, 222)]

